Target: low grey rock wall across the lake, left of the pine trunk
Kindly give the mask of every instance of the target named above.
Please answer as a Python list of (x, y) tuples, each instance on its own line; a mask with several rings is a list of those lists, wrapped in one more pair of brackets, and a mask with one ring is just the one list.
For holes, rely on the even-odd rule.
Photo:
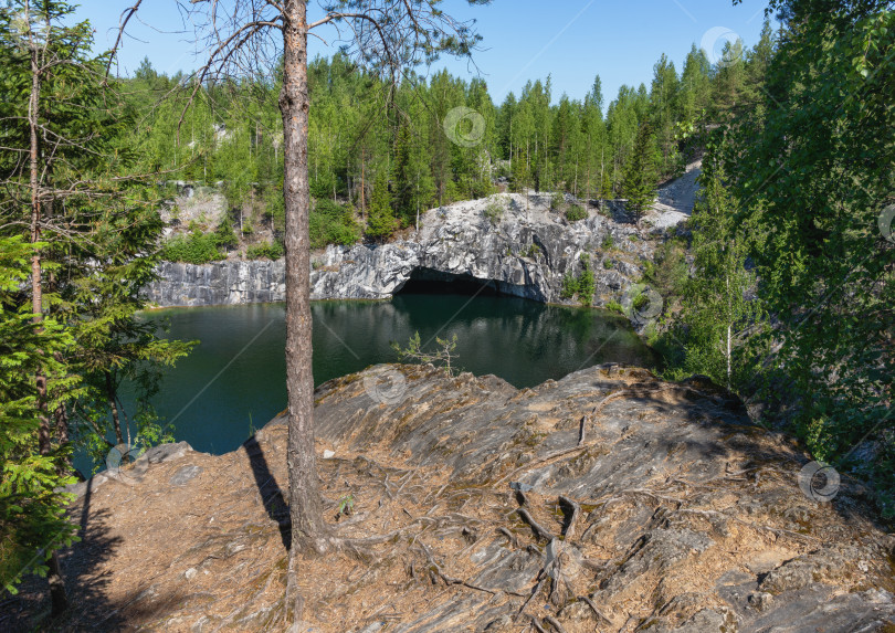
[(194, 265), (162, 262), (146, 297), (160, 307), (213, 306), (286, 300), (284, 260), (227, 260)]

